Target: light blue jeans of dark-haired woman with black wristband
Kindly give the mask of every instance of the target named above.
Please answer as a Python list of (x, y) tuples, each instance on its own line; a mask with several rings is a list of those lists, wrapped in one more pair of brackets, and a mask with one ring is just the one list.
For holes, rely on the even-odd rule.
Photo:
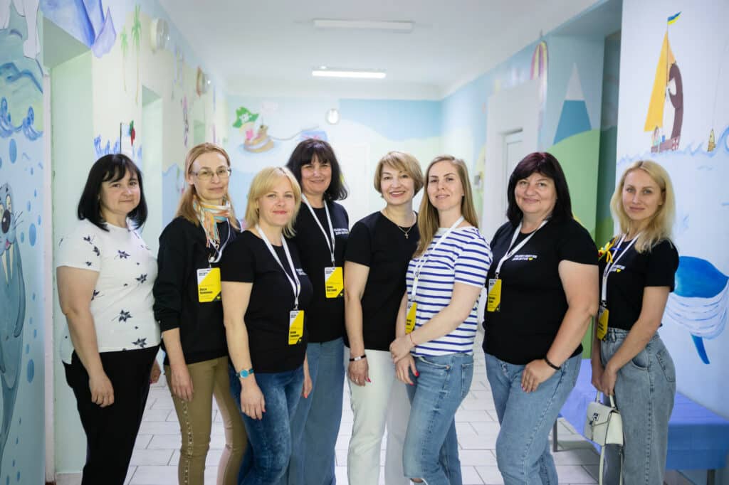
[(501, 425), (496, 463), (504, 485), (557, 485), (549, 432), (577, 382), (581, 359), (580, 355), (567, 359), (537, 390), (525, 393), (521, 374), (526, 366), (486, 354), (486, 376)]

